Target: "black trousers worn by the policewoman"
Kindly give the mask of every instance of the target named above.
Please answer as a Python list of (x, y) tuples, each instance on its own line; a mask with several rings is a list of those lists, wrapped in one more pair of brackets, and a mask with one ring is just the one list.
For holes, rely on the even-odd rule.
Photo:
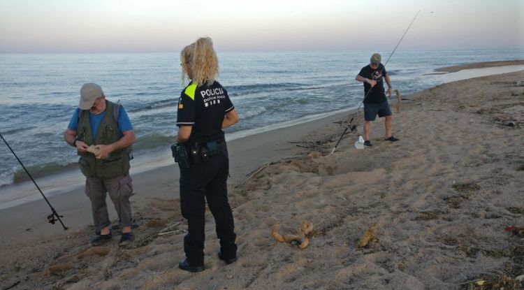
[(216, 224), (222, 257), (230, 259), (236, 256), (235, 224), (226, 184), (228, 173), (227, 150), (203, 163), (191, 163), (191, 168), (187, 171), (180, 171), (180, 209), (188, 225), (188, 232), (184, 237), (184, 252), (191, 266), (204, 264), (206, 200)]

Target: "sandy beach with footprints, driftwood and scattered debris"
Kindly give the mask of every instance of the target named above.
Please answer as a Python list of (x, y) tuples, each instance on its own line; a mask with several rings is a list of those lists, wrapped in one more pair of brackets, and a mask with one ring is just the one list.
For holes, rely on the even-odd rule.
[[(42, 200), (0, 210), (0, 288), (521, 289), (523, 80), (518, 71), (450, 82), (402, 96), (400, 113), (392, 96), (400, 141), (384, 141), (377, 119), (364, 150), (354, 147), (363, 113), (334, 154), (352, 113), (232, 140), (238, 261), (218, 259), (208, 210), (201, 273), (177, 268), (187, 225), (174, 163), (132, 175), (136, 240), (126, 248), (119, 234), (89, 246), (82, 187), (50, 198), (67, 231), (48, 224)], [(314, 226), (305, 249), (272, 237), (275, 224), (296, 233), (305, 219)], [(358, 247), (374, 224), (376, 240)]]

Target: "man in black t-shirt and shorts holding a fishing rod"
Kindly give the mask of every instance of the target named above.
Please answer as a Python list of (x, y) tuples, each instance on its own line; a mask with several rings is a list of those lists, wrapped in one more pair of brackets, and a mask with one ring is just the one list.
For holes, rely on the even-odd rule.
[(379, 115), (386, 117), (386, 138), (385, 140), (395, 142), (398, 138), (391, 133), (393, 123), (393, 113), (389, 108), (388, 99), (384, 94), (384, 80), (388, 84), (388, 96), (391, 96), (391, 82), (389, 75), (383, 64), (380, 63), (381, 56), (374, 53), (371, 56), (370, 64), (364, 66), (360, 73), (356, 75), (356, 80), (364, 82), (364, 145), (371, 146), (370, 128), (371, 122)]

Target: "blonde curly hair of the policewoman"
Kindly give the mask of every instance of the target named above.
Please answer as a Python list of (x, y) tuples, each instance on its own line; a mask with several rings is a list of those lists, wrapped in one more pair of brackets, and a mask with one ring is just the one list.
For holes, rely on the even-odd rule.
[(191, 66), (193, 82), (197, 86), (212, 85), (219, 74), (217, 53), (214, 52), (213, 41), (209, 37), (198, 38), (180, 52), (182, 64), (182, 86), (186, 79), (188, 66)]

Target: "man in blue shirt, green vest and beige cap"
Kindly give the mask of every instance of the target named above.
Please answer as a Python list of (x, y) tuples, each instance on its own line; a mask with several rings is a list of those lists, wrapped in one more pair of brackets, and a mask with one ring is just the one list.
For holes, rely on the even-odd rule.
[(64, 139), (78, 150), (78, 164), (86, 177), (85, 193), (92, 203), (96, 227), (91, 244), (100, 245), (112, 238), (106, 194), (115, 205), (122, 228), (119, 245), (129, 244), (133, 240), (129, 160), (136, 137), (126, 111), (107, 101), (99, 85), (87, 83), (80, 89), (80, 103), (64, 132)]

